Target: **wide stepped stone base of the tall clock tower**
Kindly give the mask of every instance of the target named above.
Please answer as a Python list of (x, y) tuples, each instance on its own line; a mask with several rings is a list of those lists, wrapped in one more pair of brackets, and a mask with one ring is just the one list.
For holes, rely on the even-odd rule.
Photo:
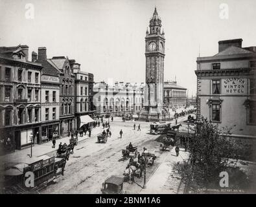
[(156, 109), (150, 107), (150, 110), (142, 109), (139, 113), (139, 121), (144, 122), (163, 122), (170, 120), (170, 114), (168, 110)]

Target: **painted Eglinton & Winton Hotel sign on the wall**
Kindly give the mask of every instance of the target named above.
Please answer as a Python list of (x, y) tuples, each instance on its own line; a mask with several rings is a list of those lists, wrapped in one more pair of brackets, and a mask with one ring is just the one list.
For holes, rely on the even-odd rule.
[(247, 80), (245, 78), (222, 79), (222, 94), (246, 94)]

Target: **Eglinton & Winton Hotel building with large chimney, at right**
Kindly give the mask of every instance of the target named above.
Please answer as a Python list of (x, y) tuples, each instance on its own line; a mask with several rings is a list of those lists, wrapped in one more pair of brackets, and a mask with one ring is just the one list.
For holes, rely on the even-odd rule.
[(197, 118), (231, 127), (233, 136), (255, 137), (256, 47), (242, 39), (218, 42), (218, 54), (197, 58)]

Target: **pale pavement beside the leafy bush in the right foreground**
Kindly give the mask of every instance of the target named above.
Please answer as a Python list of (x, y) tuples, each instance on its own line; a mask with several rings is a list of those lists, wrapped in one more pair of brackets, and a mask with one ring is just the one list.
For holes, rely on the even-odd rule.
[(189, 158), (189, 153), (185, 152), (183, 148), (180, 148), (180, 155), (176, 157), (175, 147), (173, 147), (146, 183), (146, 188), (142, 189), (140, 193), (179, 193), (180, 187), (183, 186), (180, 176), (173, 169), (173, 164), (183, 162), (187, 158)]

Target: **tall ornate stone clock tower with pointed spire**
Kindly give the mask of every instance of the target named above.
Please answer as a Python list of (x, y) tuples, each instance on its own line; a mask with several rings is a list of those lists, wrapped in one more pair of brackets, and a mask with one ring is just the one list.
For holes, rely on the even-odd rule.
[(163, 69), (165, 60), (165, 33), (156, 8), (150, 19), (150, 32), (146, 30), (146, 88), (144, 108), (139, 120), (169, 120), (169, 112), (163, 107)]

